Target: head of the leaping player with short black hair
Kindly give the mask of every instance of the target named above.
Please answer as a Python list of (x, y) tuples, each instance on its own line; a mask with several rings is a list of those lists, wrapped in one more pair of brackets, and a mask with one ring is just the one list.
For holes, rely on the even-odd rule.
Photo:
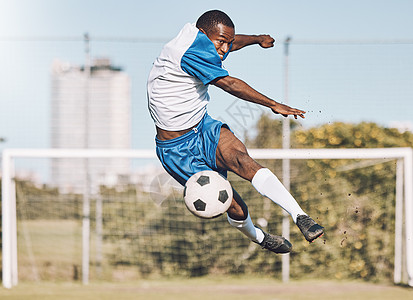
[(225, 59), (235, 38), (235, 26), (230, 17), (222, 11), (210, 10), (199, 17), (196, 27), (212, 41), (221, 60)]

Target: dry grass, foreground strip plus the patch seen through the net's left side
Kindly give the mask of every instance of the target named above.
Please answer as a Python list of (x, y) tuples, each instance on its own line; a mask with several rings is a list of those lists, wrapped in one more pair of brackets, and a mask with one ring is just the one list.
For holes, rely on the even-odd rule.
[[(81, 226), (74, 221), (25, 221), (19, 223), (19, 284), (0, 288), (0, 299), (302, 299), (384, 300), (412, 299), (413, 289), (363, 281), (291, 281), (272, 278), (208, 276), (194, 279), (135, 280), (136, 270), (127, 267), (106, 270), (105, 281), (92, 276), (82, 285), (74, 276), (80, 268)], [(92, 257), (93, 257), (93, 236)], [(94, 268), (91, 267), (91, 275)], [(80, 272), (78, 270), (77, 272)]]

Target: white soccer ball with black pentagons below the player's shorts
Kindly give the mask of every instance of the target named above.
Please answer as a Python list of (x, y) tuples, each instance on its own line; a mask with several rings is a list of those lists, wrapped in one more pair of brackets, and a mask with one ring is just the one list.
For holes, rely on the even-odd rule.
[(232, 187), (227, 179), (215, 171), (201, 171), (185, 184), (186, 207), (195, 216), (211, 219), (226, 212), (232, 202)]

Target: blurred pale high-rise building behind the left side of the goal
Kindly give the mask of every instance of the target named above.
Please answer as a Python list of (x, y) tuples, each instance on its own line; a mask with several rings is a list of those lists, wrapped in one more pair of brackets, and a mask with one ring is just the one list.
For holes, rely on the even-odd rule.
[[(130, 148), (130, 78), (121, 68), (109, 59), (96, 59), (86, 70), (55, 61), (51, 80), (53, 148)], [(125, 180), (129, 168), (125, 158), (54, 159), (51, 174), (60, 188), (77, 191), (84, 186), (86, 170), (96, 186)]]

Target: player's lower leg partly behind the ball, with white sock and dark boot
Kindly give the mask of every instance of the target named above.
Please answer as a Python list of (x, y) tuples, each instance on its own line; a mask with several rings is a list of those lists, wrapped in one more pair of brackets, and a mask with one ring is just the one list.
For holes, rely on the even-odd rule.
[(237, 228), (251, 241), (259, 244), (262, 248), (275, 253), (288, 253), (291, 251), (291, 243), (281, 236), (272, 235), (256, 227), (249, 215), (248, 207), (241, 196), (233, 189), (234, 198), (227, 210), (228, 222)]

